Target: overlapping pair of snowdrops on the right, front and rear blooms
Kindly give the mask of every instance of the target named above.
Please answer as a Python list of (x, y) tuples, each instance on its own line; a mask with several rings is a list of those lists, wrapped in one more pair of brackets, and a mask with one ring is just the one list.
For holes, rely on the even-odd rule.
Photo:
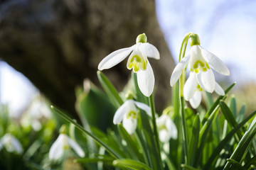
[(186, 68), (189, 62), (191, 73), (184, 85), (183, 93), (185, 100), (189, 101), (193, 108), (197, 108), (201, 103), (201, 91), (203, 90), (209, 93), (215, 91), (221, 96), (225, 95), (220, 85), (215, 82), (212, 69), (226, 76), (228, 76), (230, 72), (218, 57), (200, 46), (198, 35), (192, 33), (189, 41), (191, 50), (174, 68), (174, 72), (171, 74), (170, 84), (174, 86), (179, 77), (181, 77), (183, 69)]

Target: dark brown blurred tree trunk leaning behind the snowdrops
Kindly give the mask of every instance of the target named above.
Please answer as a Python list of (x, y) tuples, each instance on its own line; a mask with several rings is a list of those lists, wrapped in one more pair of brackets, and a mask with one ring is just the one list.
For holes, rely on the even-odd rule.
[[(97, 64), (110, 52), (134, 45), (146, 33), (161, 60), (150, 60), (157, 109), (171, 94), (174, 60), (161, 33), (153, 0), (0, 1), (0, 57), (23, 73), (51, 102), (74, 118), (75, 86), (95, 84)], [(104, 71), (119, 90), (130, 75), (126, 62)]]

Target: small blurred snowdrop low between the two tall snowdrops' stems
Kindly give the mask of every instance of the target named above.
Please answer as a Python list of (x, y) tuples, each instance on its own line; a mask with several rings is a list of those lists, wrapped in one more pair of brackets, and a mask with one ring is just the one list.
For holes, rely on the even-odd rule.
[(174, 140), (177, 139), (178, 131), (169, 115), (162, 114), (159, 118), (156, 118), (156, 125), (159, 130), (159, 140), (161, 142), (168, 142), (171, 138)]

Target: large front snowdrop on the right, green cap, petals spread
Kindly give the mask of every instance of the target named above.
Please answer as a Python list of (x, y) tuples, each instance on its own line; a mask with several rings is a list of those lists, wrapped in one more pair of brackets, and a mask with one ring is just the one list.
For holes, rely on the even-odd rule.
[(218, 57), (200, 46), (198, 35), (191, 34), (189, 41), (191, 50), (174, 68), (174, 72), (171, 74), (170, 84), (174, 86), (179, 77), (181, 77), (182, 70), (190, 62), (191, 72), (195, 73), (198, 84), (203, 90), (212, 93), (215, 89), (215, 77), (212, 69), (226, 76), (230, 72)]

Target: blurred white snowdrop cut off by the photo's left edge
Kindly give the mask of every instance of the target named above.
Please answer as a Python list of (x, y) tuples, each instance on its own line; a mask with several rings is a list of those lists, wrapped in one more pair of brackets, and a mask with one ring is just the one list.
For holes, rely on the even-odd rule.
[(0, 140), (0, 150), (5, 147), (8, 152), (15, 152), (17, 154), (22, 154), (23, 148), (21, 143), (11, 135), (10, 133), (6, 133)]

